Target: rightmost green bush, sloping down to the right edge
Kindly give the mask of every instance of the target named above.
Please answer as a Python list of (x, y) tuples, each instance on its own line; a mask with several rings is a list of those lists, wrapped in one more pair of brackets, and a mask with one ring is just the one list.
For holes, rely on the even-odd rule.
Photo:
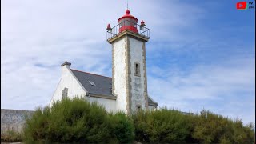
[(254, 143), (253, 125), (243, 126), (241, 120), (231, 120), (202, 110), (195, 115), (192, 137), (202, 143)]

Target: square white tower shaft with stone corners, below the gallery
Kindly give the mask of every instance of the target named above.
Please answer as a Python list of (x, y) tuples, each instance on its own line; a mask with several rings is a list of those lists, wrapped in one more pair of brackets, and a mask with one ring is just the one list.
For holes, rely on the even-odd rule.
[[(112, 43), (113, 94), (117, 96), (117, 110), (130, 114), (147, 109), (145, 42), (128, 35)], [(135, 74), (135, 63), (139, 74)]]

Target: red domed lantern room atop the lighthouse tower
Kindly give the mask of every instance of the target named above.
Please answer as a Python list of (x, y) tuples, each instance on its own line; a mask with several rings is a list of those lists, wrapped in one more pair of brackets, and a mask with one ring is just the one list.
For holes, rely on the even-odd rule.
[(130, 30), (134, 33), (138, 33), (137, 23), (138, 19), (130, 15), (130, 10), (126, 10), (126, 14), (118, 19), (118, 24), (120, 25), (119, 32)]

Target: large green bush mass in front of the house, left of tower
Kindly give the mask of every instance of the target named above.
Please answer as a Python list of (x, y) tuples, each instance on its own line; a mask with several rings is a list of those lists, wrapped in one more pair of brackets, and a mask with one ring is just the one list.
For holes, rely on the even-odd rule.
[(66, 98), (27, 118), (23, 138), (26, 142), (131, 142), (133, 126), (125, 114), (108, 116), (97, 103)]

